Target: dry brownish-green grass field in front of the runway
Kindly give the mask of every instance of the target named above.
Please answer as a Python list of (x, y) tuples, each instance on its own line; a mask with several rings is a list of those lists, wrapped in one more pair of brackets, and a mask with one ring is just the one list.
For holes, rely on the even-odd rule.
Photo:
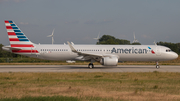
[[(180, 100), (180, 73), (0, 73), (0, 99)], [(83, 100), (82, 100), (83, 99)], [(43, 100), (44, 101), (44, 100)]]

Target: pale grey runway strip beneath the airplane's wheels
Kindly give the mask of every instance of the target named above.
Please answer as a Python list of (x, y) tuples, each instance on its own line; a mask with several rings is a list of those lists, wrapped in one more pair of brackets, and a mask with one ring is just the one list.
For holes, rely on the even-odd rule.
[(180, 66), (119, 65), (117, 67), (95, 65), (0, 65), (0, 72), (180, 72)]

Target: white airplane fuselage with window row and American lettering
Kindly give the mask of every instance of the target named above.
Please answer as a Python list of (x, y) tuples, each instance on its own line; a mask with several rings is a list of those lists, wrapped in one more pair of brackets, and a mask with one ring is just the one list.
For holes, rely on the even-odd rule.
[[(178, 55), (169, 48), (156, 45), (73, 45), (82, 53), (114, 55), (118, 61), (165, 61)], [(17, 53), (46, 60), (88, 60), (71, 51), (68, 45), (36, 45), (39, 53)]]

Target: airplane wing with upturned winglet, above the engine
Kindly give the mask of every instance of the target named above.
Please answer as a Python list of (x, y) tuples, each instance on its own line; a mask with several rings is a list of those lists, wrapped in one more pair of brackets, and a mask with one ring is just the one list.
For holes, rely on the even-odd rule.
[(100, 61), (101, 58), (103, 57), (117, 57), (114, 55), (110, 54), (94, 54), (94, 53), (83, 53), (83, 52), (78, 52), (74, 47), (70, 44), (70, 42), (67, 42), (69, 47), (71, 48), (71, 51), (74, 53), (77, 53), (79, 56), (83, 56), (83, 59), (94, 59), (96, 61)]

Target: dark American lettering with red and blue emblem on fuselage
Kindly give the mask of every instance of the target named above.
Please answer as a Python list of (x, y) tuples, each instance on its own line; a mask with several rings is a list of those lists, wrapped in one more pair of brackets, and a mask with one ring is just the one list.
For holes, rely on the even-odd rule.
[[(148, 47), (148, 48), (150, 48), (150, 47)], [(123, 49), (123, 48), (117, 48), (117, 49), (116, 49), (116, 48), (113, 48), (113, 49), (111, 50), (111, 53), (147, 54), (148, 51), (149, 51), (149, 50), (147, 50), (147, 49), (134, 48), (134, 47), (132, 47), (131, 49), (127, 49), (127, 48), (125, 48), (125, 49)], [(151, 51), (152, 54), (155, 54), (155, 52), (154, 52), (153, 50), (150, 49), (150, 51)]]

